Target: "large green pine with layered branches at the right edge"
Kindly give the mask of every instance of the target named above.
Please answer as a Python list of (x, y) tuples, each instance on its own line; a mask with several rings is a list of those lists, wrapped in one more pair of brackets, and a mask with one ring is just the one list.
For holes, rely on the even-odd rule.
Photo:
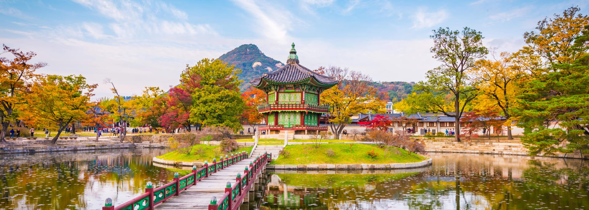
[[(571, 50), (589, 44), (589, 26)], [(589, 55), (572, 62), (551, 62), (552, 71), (521, 82), (515, 115), (524, 128), (522, 142), (530, 155), (589, 152)], [(570, 64), (569, 64), (570, 63)]]

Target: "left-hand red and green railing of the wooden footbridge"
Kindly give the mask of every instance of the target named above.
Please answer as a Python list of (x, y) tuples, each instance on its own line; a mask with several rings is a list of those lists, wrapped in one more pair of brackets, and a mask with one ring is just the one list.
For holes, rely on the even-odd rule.
[[(243, 151), (239, 154), (231, 156), (221, 156), (221, 160), (217, 162), (216, 158), (213, 158), (213, 164), (209, 164), (204, 161), (204, 165), (200, 169), (196, 169), (196, 165), (192, 166), (192, 172), (186, 176), (179, 177), (178, 172), (174, 174), (172, 182), (153, 188), (151, 182), (147, 182), (145, 186), (145, 193), (131, 199), (131, 201), (124, 202), (121, 205), (112, 205), (112, 199), (107, 198), (102, 210), (147, 210), (154, 209), (154, 206), (167, 201), (173, 196), (177, 196), (180, 192), (185, 191), (197, 184), (198, 181), (208, 177), (217, 171), (226, 168), (227, 166), (236, 164), (237, 162), (247, 158), (247, 152)], [(267, 156), (264, 154), (264, 156)], [(270, 156), (272, 158), (272, 156)], [(256, 159), (257, 162), (260, 162)], [(250, 164), (251, 166), (252, 164)]]

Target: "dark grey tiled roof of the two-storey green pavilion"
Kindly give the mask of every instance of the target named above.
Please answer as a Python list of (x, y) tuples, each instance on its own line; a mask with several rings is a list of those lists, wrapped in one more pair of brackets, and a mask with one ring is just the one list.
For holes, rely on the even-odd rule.
[(333, 77), (317, 74), (316, 72), (313, 72), (300, 64), (286, 64), (276, 71), (264, 73), (259, 78), (254, 78), (250, 84), (253, 86), (258, 86), (262, 82), (263, 78), (276, 82), (296, 82), (309, 77), (315, 78), (322, 84), (337, 84), (337, 81), (333, 79)]

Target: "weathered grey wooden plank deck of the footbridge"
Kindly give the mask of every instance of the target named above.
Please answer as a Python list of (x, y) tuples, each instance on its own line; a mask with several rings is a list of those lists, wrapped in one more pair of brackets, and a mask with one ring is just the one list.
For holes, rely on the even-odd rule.
[(225, 194), (227, 182), (231, 182), (231, 185), (235, 184), (237, 173), (241, 173), (243, 176), (244, 169), (254, 159), (243, 159), (209, 175), (209, 177), (198, 181), (195, 186), (180, 192), (180, 195), (173, 196), (168, 201), (156, 206), (155, 209), (209, 209), (211, 198), (216, 196), (217, 202), (220, 202), (221, 197)]

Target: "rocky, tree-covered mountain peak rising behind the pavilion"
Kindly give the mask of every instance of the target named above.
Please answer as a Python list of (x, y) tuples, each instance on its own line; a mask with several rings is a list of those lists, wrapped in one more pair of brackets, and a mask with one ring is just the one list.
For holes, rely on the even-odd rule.
[(221, 55), (218, 59), (241, 69), (239, 79), (244, 81), (240, 86), (241, 91), (249, 88), (248, 82), (253, 78), (262, 76), (266, 72), (272, 72), (284, 65), (282, 62), (264, 55), (254, 44), (241, 45)]

